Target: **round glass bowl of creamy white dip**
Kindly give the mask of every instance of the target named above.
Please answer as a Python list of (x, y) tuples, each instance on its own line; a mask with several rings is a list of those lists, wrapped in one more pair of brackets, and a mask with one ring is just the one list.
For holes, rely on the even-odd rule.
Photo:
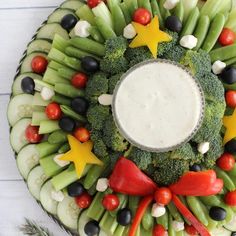
[(113, 113), (121, 134), (153, 151), (187, 141), (202, 116), (203, 97), (193, 77), (166, 61), (129, 71), (117, 85)]

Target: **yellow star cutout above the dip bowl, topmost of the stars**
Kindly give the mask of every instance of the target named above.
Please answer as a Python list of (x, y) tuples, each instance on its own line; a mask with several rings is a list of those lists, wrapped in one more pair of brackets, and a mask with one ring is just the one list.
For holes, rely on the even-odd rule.
[(160, 30), (157, 16), (155, 16), (148, 25), (141, 25), (136, 22), (132, 22), (132, 25), (137, 32), (137, 36), (130, 43), (129, 47), (136, 48), (147, 46), (154, 58), (157, 58), (158, 44), (172, 40), (170, 35)]

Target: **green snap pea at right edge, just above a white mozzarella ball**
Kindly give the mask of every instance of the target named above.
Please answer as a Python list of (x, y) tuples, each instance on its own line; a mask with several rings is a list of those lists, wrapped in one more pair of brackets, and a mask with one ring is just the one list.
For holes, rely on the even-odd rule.
[(236, 57), (236, 43), (214, 49), (210, 52), (211, 61), (215, 62), (217, 60), (225, 61), (228, 59), (232, 59), (233, 57)]

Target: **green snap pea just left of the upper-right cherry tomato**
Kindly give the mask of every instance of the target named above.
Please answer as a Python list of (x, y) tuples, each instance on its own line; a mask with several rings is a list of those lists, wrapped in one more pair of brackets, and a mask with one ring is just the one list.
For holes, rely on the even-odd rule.
[(208, 35), (203, 43), (202, 49), (210, 52), (214, 45), (217, 42), (217, 39), (220, 36), (220, 33), (222, 32), (222, 29), (224, 28), (225, 24), (225, 16), (222, 13), (216, 14), (214, 17)]

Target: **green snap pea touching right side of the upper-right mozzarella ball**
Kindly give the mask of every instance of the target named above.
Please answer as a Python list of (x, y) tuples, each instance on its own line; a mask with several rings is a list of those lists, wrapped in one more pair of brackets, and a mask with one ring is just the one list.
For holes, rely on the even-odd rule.
[(200, 16), (196, 30), (194, 32), (194, 36), (198, 39), (197, 46), (194, 50), (198, 50), (201, 48), (210, 26), (210, 18), (209, 16)]

